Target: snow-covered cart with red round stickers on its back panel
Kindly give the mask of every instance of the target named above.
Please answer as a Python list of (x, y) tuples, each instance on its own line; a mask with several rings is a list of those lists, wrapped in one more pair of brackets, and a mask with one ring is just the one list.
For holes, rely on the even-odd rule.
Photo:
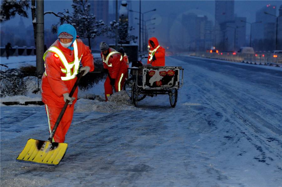
[(158, 94), (168, 94), (171, 107), (175, 107), (178, 89), (182, 86), (182, 67), (139, 66), (128, 68), (125, 90), (134, 106), (137, 106), (137, 102), (146, 96), (154, 97)]

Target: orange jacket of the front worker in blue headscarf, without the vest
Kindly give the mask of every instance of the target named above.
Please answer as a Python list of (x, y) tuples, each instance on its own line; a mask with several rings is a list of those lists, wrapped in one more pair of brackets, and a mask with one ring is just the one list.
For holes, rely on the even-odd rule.
[[(76, 41), (78, 58), (81, 58), (83, 66), (89, 66), (90, 71), (93, 71), (94, 60), (91, 50), (81, 39), (76, 39)], [(64, 48), (59, 40), (56, 40), (52, 46), (62, 51), (68, 63), (74, 61), (74, 50), (71, 51), (69, 48)], [(71, 88), (76, 82), (77, 77), (70, 80), (62, 80), (61, 77), (64, 77), (65, 73), (62, 72), (61, 68), (64, 68), (64, 64), (61, 62), (59, 56), (56, 53), (48, 52), (45, 56), (45, 73), (42, 76), (41, 93), (43, 103), (48, 106), (62, 108), (65, 104), (63, 94), (70, 93)], [(71, 70), (73, 70), (73, 68)], [(76, 103), (77, 92), (78, 89), (76, 88), (72, 96), (76, 99), (72, 102), (72, 105)]]

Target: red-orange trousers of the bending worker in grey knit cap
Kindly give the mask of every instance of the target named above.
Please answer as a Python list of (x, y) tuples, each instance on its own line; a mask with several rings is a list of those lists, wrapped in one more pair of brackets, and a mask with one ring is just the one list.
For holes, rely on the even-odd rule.
[[(117, 78), (115, 79), (115, 90), (116, 92), (119, 92), (120, 90), (123, 90), (123, 85), (125, 82), (125, 78), (127, 78), (127, 72), (124, 73), (118, 73)], [(111, 85), (111, 80), (109, 75), (107, 76), (105, 83), (104, 83), (104, 88), (105, 88), (105, 98), (106, 101), (108, 100), (107, 96), (110, 96), (113, 94), (112, 90), (112, 85)]]

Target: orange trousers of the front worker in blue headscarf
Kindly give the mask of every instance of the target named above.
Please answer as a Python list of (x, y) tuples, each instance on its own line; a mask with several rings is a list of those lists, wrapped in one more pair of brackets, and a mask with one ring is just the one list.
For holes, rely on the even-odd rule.
[[(45, 104), (45, 110), (48, 117), (49, 132), (51, 132), (52, 129), (54, 128), (54, 125), (58, 119), (58, 116), (62, 108), (47, 106)], [(68, 129), (70, 128), (70, 124), (72, 121), (73, 110), (74, 110), (74, 105), (68, 105), (68, 107), (65, 110), (65, 114), (63, 115), (59, 123), (59, 126), (55, 132), (53, 141), (58, 143), (63, 143), (65, 141), (65, 134), (68, 132)]]

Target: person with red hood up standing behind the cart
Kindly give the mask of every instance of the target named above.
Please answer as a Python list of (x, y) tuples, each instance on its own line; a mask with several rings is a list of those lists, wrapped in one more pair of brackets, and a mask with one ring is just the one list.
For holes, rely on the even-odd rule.
[(157, 38), (150, 38), (149, 41), (148, 64), (152, 66), (165, 66), (165, 48), (159, 46)]

